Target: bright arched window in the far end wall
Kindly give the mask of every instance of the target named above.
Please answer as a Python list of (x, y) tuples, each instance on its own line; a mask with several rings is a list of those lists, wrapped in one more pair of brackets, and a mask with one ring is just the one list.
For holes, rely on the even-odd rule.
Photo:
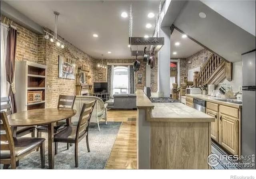
[(113, 91), (114, 94), (128, 94), (128, 67), (114, 66)]

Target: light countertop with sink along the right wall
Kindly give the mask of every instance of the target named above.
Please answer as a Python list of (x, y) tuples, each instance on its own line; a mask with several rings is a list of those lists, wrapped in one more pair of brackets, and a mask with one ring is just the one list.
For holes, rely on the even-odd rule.
[(214, 102), (216, 104), (222, 104), (225, 106), (230, 106), (233, 108), (242, 108), (242, 104), (236, 104), (236, 103), (231, 103), (231, 102), (225, 102), (225, 101), (219, 101), (216, 100), (216, 97), (212, 97), (212, 96), (207, 96), (207, 95), (202, 95), (202, 94), (185, 94), (186, 96), (192, 97), (192, 98), (198, 98), (198, 99), (202, 99), (202, 100), (206, 100), (208, 102)]

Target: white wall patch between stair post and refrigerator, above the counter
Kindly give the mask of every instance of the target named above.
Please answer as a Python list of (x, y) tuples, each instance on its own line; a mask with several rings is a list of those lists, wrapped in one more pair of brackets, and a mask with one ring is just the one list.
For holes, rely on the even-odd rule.
[(234, 62), (232, 81), (225, 79), (222, 83), (231, 85), (234, 91), (238, 91), (238, 86), (242, 86), (243, 84), (242, 75), (242, 61)]

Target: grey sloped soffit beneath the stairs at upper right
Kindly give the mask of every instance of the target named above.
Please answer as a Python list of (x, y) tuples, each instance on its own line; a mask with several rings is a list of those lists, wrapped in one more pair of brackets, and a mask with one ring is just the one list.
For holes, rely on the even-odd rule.
[[(200, 18), (200, 12), (204, 12), (206, 18)], [(241, 61), (242, 53), (255, 49), (254, 35), (200, 1), (188, 1), (174, 21), (174, 25), (231, 62)]]

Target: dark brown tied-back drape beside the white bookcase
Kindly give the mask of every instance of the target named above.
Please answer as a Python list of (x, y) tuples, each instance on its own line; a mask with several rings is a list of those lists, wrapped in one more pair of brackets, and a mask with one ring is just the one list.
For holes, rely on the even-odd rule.
[(7, 43), (6, 43), (6, 80), (10, 83), (10, 89), (8, 92), (8, 96), (11, 96), (12, 99), (12, 107), (13, 111), (16, 110), (16, 102), (14, 97), (14, 72), (15, 72), (15, 54), (16, 54), (16, 39), (17, 39), (17, 30), (9, 27), (8, 35), (7, 35)]

